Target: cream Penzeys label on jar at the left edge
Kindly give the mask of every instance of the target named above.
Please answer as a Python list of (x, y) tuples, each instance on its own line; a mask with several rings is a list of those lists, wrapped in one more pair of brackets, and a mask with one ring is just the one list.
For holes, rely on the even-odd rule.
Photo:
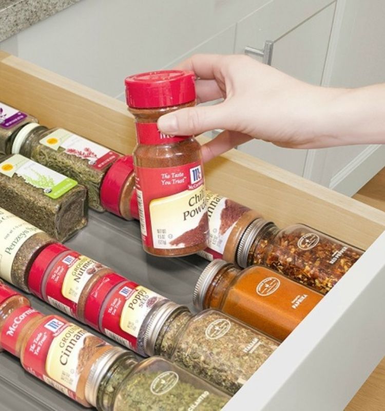
[(0, 276), (9, 283), (12, 283), (12, 264), (18, 250), (36, 233), (42, 230), (0, 208)]

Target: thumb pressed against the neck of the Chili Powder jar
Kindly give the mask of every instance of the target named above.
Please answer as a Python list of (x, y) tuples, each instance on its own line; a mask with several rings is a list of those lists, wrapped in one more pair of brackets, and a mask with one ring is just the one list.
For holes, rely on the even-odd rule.
[(227, 127), (227, 107), (224, 103), (213, 106), (181, 108), (159, 118), (158, 128), (168, 135), (197, 135), (214, 128)]

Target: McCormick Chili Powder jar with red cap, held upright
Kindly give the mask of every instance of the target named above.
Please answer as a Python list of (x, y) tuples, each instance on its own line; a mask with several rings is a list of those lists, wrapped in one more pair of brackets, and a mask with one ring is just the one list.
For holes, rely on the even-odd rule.
[(208, 219), (200, 144), (157, 126), (160, 116), (196, 104), (194, 73), (154, 71), (125, 83), (138, 138), (133, 158), (144, 250), (159, 256), (203, 250)]

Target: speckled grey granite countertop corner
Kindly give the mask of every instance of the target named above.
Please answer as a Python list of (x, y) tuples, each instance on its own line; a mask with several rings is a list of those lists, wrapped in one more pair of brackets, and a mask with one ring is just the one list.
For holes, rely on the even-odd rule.
[(0, 0), (0, 42), (80, 0)]

